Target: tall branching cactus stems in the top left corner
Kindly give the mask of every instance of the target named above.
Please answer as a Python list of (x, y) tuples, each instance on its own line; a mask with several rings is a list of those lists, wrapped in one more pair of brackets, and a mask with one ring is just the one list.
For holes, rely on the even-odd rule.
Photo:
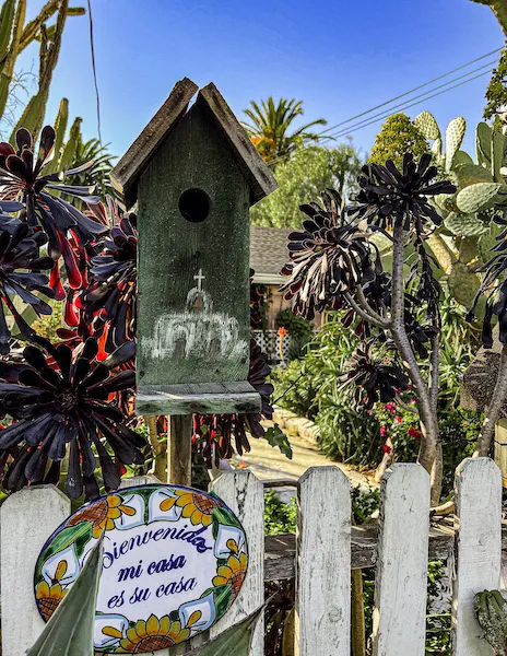
[[(70, 8), (69, 0), (49, 0), (35, 19), (25, 24), (26, 0), (4, 0), (0, 9), (0, 118), (8, 104), (16, 59), (30, 44), (38, 40), (38, 91), (30, 99), (16, 126), (17, 129), (22, 125), (37, 136), (46, 113), (49, 85), (58, 61), (67, 16), (84, 13), (83, 8)], [(47, 27), (47, 21), (55, 14), (56, 23)]]

